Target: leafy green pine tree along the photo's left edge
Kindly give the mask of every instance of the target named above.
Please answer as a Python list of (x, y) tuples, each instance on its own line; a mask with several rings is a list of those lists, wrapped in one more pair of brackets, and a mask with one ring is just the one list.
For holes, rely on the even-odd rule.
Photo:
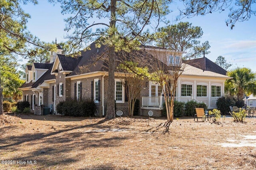
[[(27, 4), (29, 2), (37, 4), (36, 0), (0, 1), (1, 56), (16, 60), (18, 56), (22, 56), (24, 58), (27, 56), (35, 56), (37, 50), (34, 50), (34, 47), (40, 47), (48, 50), (57, 49), (52, 44), (41, 42), (26, 29), (26, 23), (28, 22), (30, 15), (22, 10), (20, 4)], [(3, 114), (2, 91), (2, 87), (0, 86), (0, 114)]]

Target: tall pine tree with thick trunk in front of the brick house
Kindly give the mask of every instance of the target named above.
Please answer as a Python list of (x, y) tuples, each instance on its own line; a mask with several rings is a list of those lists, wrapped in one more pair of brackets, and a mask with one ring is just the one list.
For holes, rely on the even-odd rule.
[[(55, 0), (50, 0), (56, 2)], [(114, 70), (116, 53), (138, 47), (146, 25), (156, 27), (165, 21), (169, 0), (57, 0), (62, 14), (70, 14), (65, 31), (73, 31), (67, 38), (70, 45), (86, 47), (97, 39), (98, 45), (108, 47), (108, 103), (106, 119), (115, 118)], [(152, 20), (154, 22), (152, 22)], [(153, 25), (156, 23), (156, 25)], [(78, 49), (80, 50), (80, 49)]]

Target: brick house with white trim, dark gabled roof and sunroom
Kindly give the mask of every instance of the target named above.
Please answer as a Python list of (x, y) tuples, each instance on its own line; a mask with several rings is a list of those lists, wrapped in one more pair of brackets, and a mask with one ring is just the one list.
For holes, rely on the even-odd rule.
[[(150, 47), (147, 47), (149, 49)], [(37, 108), (50, 108), (56, 113), (56, 105), (67, 98), (92, 98), (96, 103), (99, 115), (106, 115), (108, 102), (108, 67), (103, 60), (96, 63), (95, 56), (106, 52), (105, 46), (90, 45), (90, 50), (82, 51), (80, 56), (62, 55), (58, 45), (57, 52), (52, 52), (49, 63), (33, 63), (26, 66), (26, 82), (20, 87), (23, 100), (30, 102), (32, 112)], [(149, 50), (150, 51), (150, 50)], [(181, 61), (181, 57), (180, 57)], [(216, 108), (216, 100), (224, 94), (224, 82), (230, 78), (226, 70), (206, 57), (183, 61), (186, 64), (184, 72), (178, 79), (175, 100), (195, 100), (205, 102), (208, 108)], [(115, 74), (116, 108), (120, 114), (128, 115), (128, 100), (126, 90)], [(162, 89), (156, 82), (142, 80), (145, 86), (140, 92), (140, 115), (154, 116), (162, 113)], [(41, 113), (41, 112), (40, 112)]]

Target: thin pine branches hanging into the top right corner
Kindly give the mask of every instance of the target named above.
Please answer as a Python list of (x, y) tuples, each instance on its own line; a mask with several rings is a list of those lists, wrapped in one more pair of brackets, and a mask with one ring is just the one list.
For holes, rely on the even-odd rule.
[(180, 9), (178, 19), (194, 17), (197, 15), (211, 14), (212, 12), (223, 12), (229, 8), (226, 25), (231, 29), (237, 21), (247, 21), (256, 15), (255, 0), (180, 0), (185, 9)]

